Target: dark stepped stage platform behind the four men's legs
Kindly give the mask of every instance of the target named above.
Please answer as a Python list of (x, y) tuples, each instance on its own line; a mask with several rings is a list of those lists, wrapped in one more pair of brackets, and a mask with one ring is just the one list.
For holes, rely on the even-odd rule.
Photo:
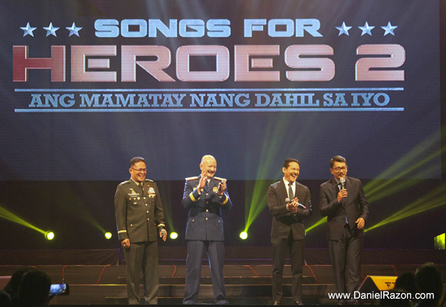
[[(231, 305), (269, 305), (271, 299), (271, 255), (267, 247), (226, 247), (224, 276)], [(185, 283), (185, 248), (160, 248), (160, 292), (158, 304), (181, 304)], [(123, 305), (127, 296), (125, 261), (120, 250), (20, 250), (0, 251), (0, 289), (8, 276), (23, 265), (33, 265), (49, 274), (52, 283), (70, 284), (70, 294), (55, 297), (52, 305)], [(445, 250), (364, 250), (362, 278), (399, 276), (415, 272), (424, 262), (434, 262), (446, 274)], [(328, 250), (305, 250), (302, 300), (305, 304), (335, 304), (334, 277)], [(284, 270), (284, 304), (291, 304), (291, 268)], [(142, 284), (142, 282), (141, 282)], [(141, 294), (142, 286), (141, 286)], [(203, 260), (199, 304), (213, 304), (210, 269)]]

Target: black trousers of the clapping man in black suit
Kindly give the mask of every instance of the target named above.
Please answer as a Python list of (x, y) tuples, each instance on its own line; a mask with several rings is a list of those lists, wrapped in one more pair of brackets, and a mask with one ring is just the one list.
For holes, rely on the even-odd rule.
[(302, 267), (304, 264), (305, 239), (293, 239), (290, 231), (288, 238), (271, 238), (272, 242), (272, 299), (281, 301), (284, 296), (282, 278), (284, 276), (284, 264), (286, 253), (290, 253), (291, 258), (291, 290), (293, 291), (293, 301), (301, 301), (300, 291), (302, 285)]

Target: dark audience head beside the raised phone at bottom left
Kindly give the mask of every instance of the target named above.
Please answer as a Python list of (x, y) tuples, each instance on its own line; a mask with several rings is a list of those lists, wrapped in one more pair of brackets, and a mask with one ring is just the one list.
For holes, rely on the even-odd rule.
[(43, 271), (29, 271), (22, 276), (18, 290), (19, 307), (42, 307), (49, 302), (51, 279)]

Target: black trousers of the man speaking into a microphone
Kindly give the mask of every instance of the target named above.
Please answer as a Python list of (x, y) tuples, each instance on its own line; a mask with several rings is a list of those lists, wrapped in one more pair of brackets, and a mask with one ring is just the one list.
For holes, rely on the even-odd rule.
[(357, 238), (354, 234), (355, 230), (345, 225), (341, 239), (328, 241), (336, 291), (350, 293), (351, 297), (353, 297), (353, 292), (360, 287), (361, 276), (362, 237)]

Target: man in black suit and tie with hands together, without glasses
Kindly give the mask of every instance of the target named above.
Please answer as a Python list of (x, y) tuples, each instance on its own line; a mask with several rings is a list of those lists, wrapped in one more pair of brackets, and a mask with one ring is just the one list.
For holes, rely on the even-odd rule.
[(303, 305), (300, 291), (305, 248), (303, 219), (312, 216), (312, 203), (308, 188), (296, 182), (300, 173), (299, 161), (286, 159), (282, 171), (284, 178), (268, 189), (268, 207), (272, 214), (272, 299), (275, 305), (282, 304), (282, 277), (286, 253), (289, 251), (293, 302)]

